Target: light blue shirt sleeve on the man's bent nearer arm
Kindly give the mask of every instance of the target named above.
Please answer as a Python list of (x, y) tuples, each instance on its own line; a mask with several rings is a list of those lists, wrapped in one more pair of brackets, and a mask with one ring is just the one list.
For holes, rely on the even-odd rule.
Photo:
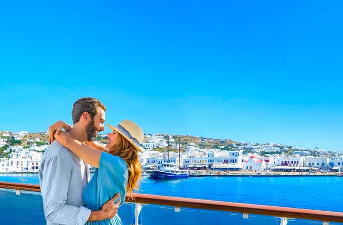
[(67, 195), (71, 169), (61, 157), (53, 157), (44, 164), (41, 193), (47, 221), (65, 225), (83, 225), (91, 210), (83, 206), (68, 205)]

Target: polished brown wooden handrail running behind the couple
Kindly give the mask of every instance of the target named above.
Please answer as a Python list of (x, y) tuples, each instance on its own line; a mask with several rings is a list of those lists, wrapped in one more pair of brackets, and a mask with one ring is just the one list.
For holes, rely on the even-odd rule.
[[(0, 182), (0, 188), (36, 192), (40, 191), (39, 185), (24, 183)], [(247, 214), (268, 215), (275, 217), (299, 218), (307, 220), (343, 223), (343, 212), (331, 212), (247, 203), (230, 203), (222, 201), (190, 199), (137, 193), (133, 194), (133, 197), (133, 200), (126, 198), (126, 201), (130, 203), (169, 205), (175, 207), (209, 209)]]

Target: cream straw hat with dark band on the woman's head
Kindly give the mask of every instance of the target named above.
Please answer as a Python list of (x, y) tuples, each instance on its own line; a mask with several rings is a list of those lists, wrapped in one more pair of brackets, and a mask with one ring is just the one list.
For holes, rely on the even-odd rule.
[(139, 148), (143, 141), (143, 131), (136, 123), (124, 119), (116, 127), (107, 124), (109, 128), (123, 135), (138, 151), (142, 152)]

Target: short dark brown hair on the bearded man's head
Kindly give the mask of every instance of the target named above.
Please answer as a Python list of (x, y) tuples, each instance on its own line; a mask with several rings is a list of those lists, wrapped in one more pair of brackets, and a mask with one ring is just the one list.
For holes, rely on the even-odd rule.
[(106, 107), (100, 100), (97, 98), (85, 97), (78, 99), (72, 110), (73, 124), (80, 121), (81, 115), (83, 112), (88, 112), (88, 114), (93, 119), (96, 114), (98, 114), (98, 107), (102, 108), (103, 111), (106, 111)]

